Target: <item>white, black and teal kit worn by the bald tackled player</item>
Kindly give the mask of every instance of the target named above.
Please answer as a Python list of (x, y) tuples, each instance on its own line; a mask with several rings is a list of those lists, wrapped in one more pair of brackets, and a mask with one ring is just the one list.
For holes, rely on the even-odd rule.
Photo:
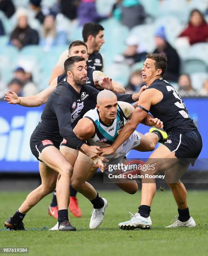
[[(113, 141), (117, 138), (120, 130), (123, 128), (128, 118), (133, 113), (134, 108), (127, 102), (118, 101), (117, 115), (112, 125), (106, 125), (100, 120), (99, 112), (97, 108), (89, 110), (83, 118), (90, 119), (95, 126), (94, 135), (88, 139), (88, 143), (91, 146), (107, 147), (113, 144)], [(127, 141), (125, 141), (112, 155), (108, 158), (120, 158), (140, 144), (140, 136), (135, 131)]]

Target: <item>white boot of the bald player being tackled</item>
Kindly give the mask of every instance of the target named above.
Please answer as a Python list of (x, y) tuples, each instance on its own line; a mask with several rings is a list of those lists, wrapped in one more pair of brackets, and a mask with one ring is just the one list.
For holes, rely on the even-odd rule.
[(100, 224), (103, 222), (105, 209), (108, 206), (108, 202), (105, 198), (103, 198), (104, 206), (100, 209), (93, 209), (92, 216), (90, 218), (90, 229), (95, 229), (100, 226)]

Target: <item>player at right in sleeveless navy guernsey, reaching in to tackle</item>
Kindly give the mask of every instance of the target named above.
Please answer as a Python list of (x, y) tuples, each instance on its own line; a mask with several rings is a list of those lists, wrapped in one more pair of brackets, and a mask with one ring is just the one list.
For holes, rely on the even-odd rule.
[[(165, 171), (165, 180), (173, 192), (178, 205), (178, 218), (166, 228), (195, 227), (195, 221), (189, 215), (186, 189), (180, 181), (181, 175), (190, 163), (198, 158), (202, 149), (202, 138), (188, 110), (175, 88), (163, 80), (167, 68), (167, 58), (162, 54), (148, 54), (142, 68), (142, 79), (147, 89), (140, 95), (138, 107), (120, 132), (115, 142), (102, 148), (103, 155), (112, 154), (135, 131), (146, 113), (150, 112), (163, 121), (168, 141), (157, 148), (147, 161), (155, 163), (149, 174)], [(139, 210), (131, 220), (119, 223), (122, 229), (151, 228), (150, 206), (156, 192), (155, 179), (142, 179), (142, 195)]]

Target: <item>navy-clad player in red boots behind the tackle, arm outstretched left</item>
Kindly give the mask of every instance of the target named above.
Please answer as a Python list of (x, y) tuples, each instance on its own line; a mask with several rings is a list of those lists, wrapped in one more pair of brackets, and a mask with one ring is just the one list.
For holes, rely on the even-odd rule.
[[(68, 50), (68, 57), (70, 56), (80, 56), (84, 57), (85, 60), (88, 59), (88, 49), (87, 45), (83, 41), (73, 41)], [(64, 67), (64, 61), (67, 58), (61, 58), (61, 62), (63, 62)], [(64, 71), (64, 70), (63, 70)], [(5, 100), (8, 100), (8, 103), (11, 104), (20, 104), (22, 106), (26, 107), (36, 107), (40, 106), (43, 103), (45, 103), (49, 97), (49, 95), (55, 90), (57, 84), (65, 79), (65, 74), (61, 74), (59, 77), (56, 77), (53, 79), (52, 83), (48, 88), (40, 92), (38, 95), (33, 96), (27, 96), (27, 97), (18, 97), (14, 92), (9, 91), (9, 94), (5, 95)], [(108, 82), (108, 77), (103, 74), (103, 72), (95, 71), (92, 68), (87, 67), (87, 79), (86, 84), (97, 88), (98, 90), (103, 90), (103, 84), (106, 84)], [(112, 88), (112, 89), (110, 89)], [(121, 87), (119, 84), (112, 81), (111, 87), (108, 87), (108, 89), (112, 90), (115, 93), (124, 93), (125, 89)], [(96, 101), (89, 100), (87, 104), (87, 108), (85, 108), (85, 111), (87, 112), (90, 109), (95, 108)], [(86, 106), (85, 106), (86, 107)], [(84, 156), (84, 154), (83, 154)], [(81, 160), (81, 159), (80, 159)], [(89, 177), (92, 175), (89, 174)], [(88, 178), (89, 178), (88, 177)], [(73, 189), (73, 187), (70, 187), (70, 211), (75, 215), (76, 217), (81, 217), (81, 210), (78, 206), (78, 200), (76, 198), (76, 191)], [(58, 218), (58, 206), (56, 201), (56, 192), (54, 192), (53, 200), (48, 208), (48, 213), (52, 215), (55, 218)]]

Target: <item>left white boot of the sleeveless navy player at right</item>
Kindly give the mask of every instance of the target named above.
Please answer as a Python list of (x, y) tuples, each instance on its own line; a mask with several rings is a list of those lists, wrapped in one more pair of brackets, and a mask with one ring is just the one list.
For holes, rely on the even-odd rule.
[(118, 224), (120, 229), (150, 229), (152, 227), (152, 221), (150, 216), (148, 218), (142, 217), (138, 212), (135, 214), (129, 212), (131, 214), (131, 219), (125, 222), (121, 222)]

